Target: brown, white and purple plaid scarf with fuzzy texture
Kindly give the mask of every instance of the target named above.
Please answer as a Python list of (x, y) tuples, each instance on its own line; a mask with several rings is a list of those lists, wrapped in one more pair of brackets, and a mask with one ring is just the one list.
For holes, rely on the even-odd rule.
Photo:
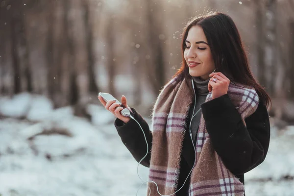
[[(179, 81), (177, 77), (174, 77), (161, 90), (153, 108), (149, 180), (156, 182), (159, 193), (162, 195), (173, 194), (174, 196), (177, 188), (183, 139), (188, 130), (185, 122), (193, 96), (194, 93), (191, 92), (185, 79)], [(230, 83), (228, 96), (245, 124), (245, 118), (250, 116), (258, 106), (256, 91), (254, 88), (240, 87)], [(205, 102), (211, 99), (210, 92)], [(196, 139), (195, 159), (189, 196), (244, 195), (243, 183), (223, 165), (221, 158), (214, 150), (202, 114)], [(160, 196), (154, 183), (148, 182), (148, 187), (151, 190), (150, 196)]]

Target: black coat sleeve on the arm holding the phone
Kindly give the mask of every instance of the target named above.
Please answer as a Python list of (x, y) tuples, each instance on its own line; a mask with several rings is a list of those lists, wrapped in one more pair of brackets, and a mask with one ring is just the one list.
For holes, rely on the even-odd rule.
[(133, 119), (125, 124), (120, 119), (116, 119), (114, 125), (118, 131), (119, 136), (121, 137), (124, 146), (131, 152), (132, 156), (138, 163), (146, 155), (148, 144), (147, 156), (140, 162), (140, 164), (144, 165), (145, 167), (149, 167), (152, 147), (152, 132), (150, 131), (149, 125), (143, 119), (143, 117), (134, 108), (131, 109), (134, 114), (134, 119), (136, 119), (136, 121), (138, 121), (138, 123), (140, 123), (141, 127), (143, 128), (146, 140), (139, 124)]

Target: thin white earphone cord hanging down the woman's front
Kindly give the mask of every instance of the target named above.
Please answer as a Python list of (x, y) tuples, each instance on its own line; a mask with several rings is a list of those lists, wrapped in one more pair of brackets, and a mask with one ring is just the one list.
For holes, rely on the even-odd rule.
[[(216, 69), (213, 71), (213, 73), (214, 73), (215, 71), (216, 71)], [(194, 90), (195, 101), (194, 101), (193, 114), (192, 114), (192, 118), (191, 118), (190, 126), (189, 126), (189, 133), (190, 133), (191, 142), (192, 142), (192, 144), (193, 144), (194, 152), (196, 153), (196, 148), (195, 148), (195, 146), (194, 146), (194, 142), (193, 142), (193, 138), (192, 138), (191, 123), (192, 123), (193, 118), (194, 118), (194, 117), (196, 116), (196, 114), (201, 110), (201, 108), (196, 112), (196, 114), (194, 114), (194, 112), (195, 112), (195, 107), (196, 107), (196, 92), (195, 92), (195, 86), (194, 86), (194, 82), (193, 82), (193, 77), (191, 77), (191, 82), (192, 82), (192, 86), (193, 86), (193, 90)], [(130, 115), (130, 118), (133, 119), (136, 123), (138, 123), (138, 121), (137, 121), (133, 116)], [(192, 167), (191, 171), (189, 172), (189, 174), (188, 174), (187, 178), (185, 179), (185, 181), (184, 181), (184, 183), (183, 183), (183, 185), (182, 185), (181, 188), (179, 188), (176, 192), (174, 192), (174, 193), (171, 194), (171, 195), (162, 195), (162, 194), (160, 194), (159, 191), (158, 191), (158, 186), (157, 186), (156, 182), (154, 182), (154, 181), (152, 181), (152, 180), (148, 180), (148, 181), (145, 181), (145, 182), (144, 182), (144, 181), (141, 179), (141, 177), (139, 176), (139, 173), (138, 173), (139, 165), (140, 165), (141, 161), (147, 156), (147, 154), (148, 154), (148, 150), (149, 150), (149, 149), (148, 149), (148, 143), (147, 143), (147, 139), (146, 139), (146, 135), (145, 135), (145, 133), (144, 133), (144, 130), (143, 130), (143, 128), (141, 127), (140, 123), (138, 123), (138, 124), (139, 124), (139, 126), (140, 126), (140, 128), (141, 128), (141, 130), (142, 130), (142, 132), (143, 132), (144, 138), (145, 138), (145, 142), (146, 142), (146, 145), (147, 145), (147, 152), (146, 152), (146, 155), (145, 155), (145, 156), (139, 161), (138, 166), (137, 166), (137, 175), (138, 175), (138, 177), (140, 178), (140, 180), (141, 180), (143, 183), (142, 183), (142, 184), (140, 185), (140, 187), (138, 188), (137, 193), (136, 193), (136, 196), (138, 195), (138, 191), (140, 190), (141, 186), (142, 186), (143, 184), (145, 184), (146, 182), (153, 182), (153, 183), (156, 185), (157, 193), (158, 193), (159, 195), (161, 195), (161, 196), (172, 196), (172, 195), (174, 195), (175, 193), (177, 193), (179, 190), (181, 190), (181, 189), (183, 188), (183, 186), (185, 185), (185, 183), (186, 183), (188, 177), (190, 176), (191, 172), (193, 171), (193, 169), (194, 169), (194, 167), (195, 167), (196, 159), (194, 160), (193, 167)], [(148, 189), (150, 190), (149, 187), (148, 187)], [(150, 196), (150, 194), (151, 194), (151, 190), (150, 190), (150, 192), (149, 192), (149, 196)]]

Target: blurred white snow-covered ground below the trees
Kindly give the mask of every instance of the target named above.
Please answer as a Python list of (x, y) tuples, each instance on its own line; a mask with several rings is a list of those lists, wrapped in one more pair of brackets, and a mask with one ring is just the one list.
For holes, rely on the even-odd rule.
[[(0, 196), (135, 196), (138, 163), (112, 114), (99, 105), (88, 111), (93, 123), (42, 96), (0, 98), (0, 114), (11, 117), (0, 119)], [(272, 128), (266, 160), (245, 174), (246, 196), (294, 196), (293, 141), (294, 126)], [(140, 165), (139, 175), (147, 180), (148, 169)], [(138, 196), (146, 192), (145, 184)]]

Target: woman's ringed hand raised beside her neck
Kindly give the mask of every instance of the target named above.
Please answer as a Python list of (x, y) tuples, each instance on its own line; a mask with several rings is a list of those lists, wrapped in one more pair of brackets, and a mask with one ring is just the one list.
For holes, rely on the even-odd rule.
[[(208, 90), (212, 91), (212, 99), (219, 98), (228, 93), (230, 80), (221, 72), (211, 73), (209, 75)], [(214, 78), (217, 80), (214, 82)]]

